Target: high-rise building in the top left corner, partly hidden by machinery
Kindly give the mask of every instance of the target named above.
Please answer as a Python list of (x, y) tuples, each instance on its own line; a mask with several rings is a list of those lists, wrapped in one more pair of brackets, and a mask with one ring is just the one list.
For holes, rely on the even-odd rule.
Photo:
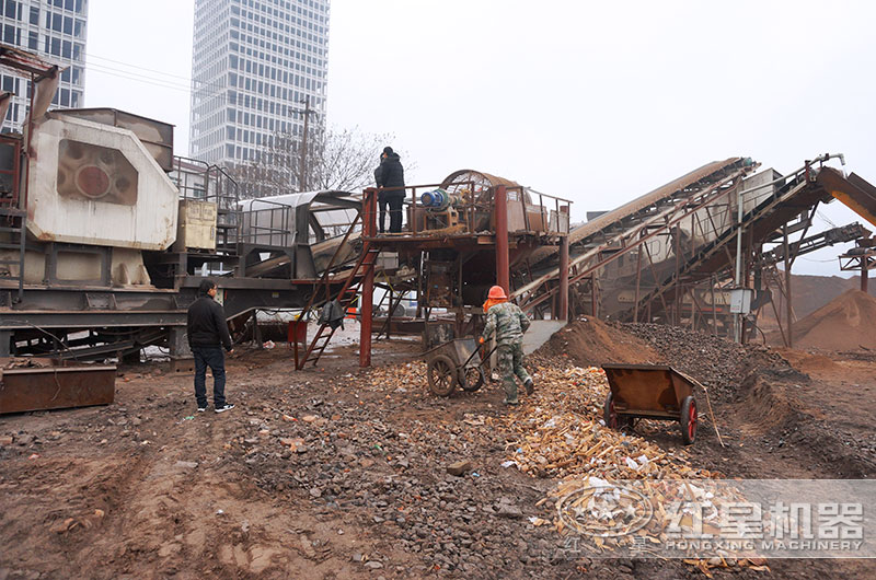
[[(0, 39), (67, 67), (51, 101), (56, 107), (84, 106), (88, 0), (1, 0)], [(21, 77), (0, 73), (0, 89), (15, 96), (3, 130), (21, 130), (27, 114), (27, 84)]]

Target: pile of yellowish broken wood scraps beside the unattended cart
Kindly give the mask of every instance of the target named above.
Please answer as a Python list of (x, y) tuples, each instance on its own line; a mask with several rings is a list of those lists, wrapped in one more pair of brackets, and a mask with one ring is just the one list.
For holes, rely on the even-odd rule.
[[(695, 495), (698, 487), (691, 480), (721, 478), (722, 474), (691, 465), (684, 451), (666, 451), (633, 432), (608, 429), (602, 417), (609, 385), (602, 369), (539, 361), (534, 379), (534, 395), (525, 397), (520, 408), (507, 417), (494, 419), (519, 436), (503, 465), (517, 466), (534, 477), (561, 478), (539, 504), (555, 506), (556, 531), (579, 536), (585, 552), (635, 556), (635, 547), (639, 555), (652, 552), (659, 556), (667, 540), (662, 531), (671, 517), (662, 506)], [(641, 515), (633, 509), (637, 497), (624, 497), (624, 482), (641, 486), (638, 491), (657, 506), (647, 524), (636, 523)], [(610, 490), (611, 509), (601, 501), (600, 487)], [(607, 519), (600, 522), (600, 517)], [(684, 532), (691, 525), (689, 519), (680, 522)], [(606, 533), (608, 530), (616, 533)], [(721, 567), (765, 569), (763, 560), (753, 556), (715, 554), (685, 561), (706, 575)]]

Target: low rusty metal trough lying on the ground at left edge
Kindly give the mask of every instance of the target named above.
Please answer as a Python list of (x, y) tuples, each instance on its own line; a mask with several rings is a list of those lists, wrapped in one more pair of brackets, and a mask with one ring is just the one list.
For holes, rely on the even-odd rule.
[(116, 368), (53, 359), (0, 359), (0, 415), (110, 405)]

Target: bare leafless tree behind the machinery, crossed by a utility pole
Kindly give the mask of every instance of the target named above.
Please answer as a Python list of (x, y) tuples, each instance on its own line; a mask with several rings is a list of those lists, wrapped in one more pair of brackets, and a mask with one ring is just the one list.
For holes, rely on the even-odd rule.
[[(365, 134), (353, 129), (313, 127), (308, 136), (307, 188), (359, 192), (373, 185), (380, 152), (391, 143), (388, 134)], [(266, 197), (298, 192), (301, 183), (300, 138), (274, 134), (255, 160), (232, 169), (240, 184), (241, 198)]]

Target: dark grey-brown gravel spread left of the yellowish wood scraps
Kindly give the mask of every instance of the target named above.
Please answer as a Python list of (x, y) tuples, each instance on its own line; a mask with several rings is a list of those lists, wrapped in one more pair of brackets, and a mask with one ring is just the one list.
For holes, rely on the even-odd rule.
[[(422, 565), (396, 570), (402, 577), (574, 570), (574, 561), (557, 558), (561, 538), (552, 526), (533, 523), (550, 518), (550, 507), (535, 507), (550, 484), (535, 487), (502, 466), (516, 444), (494, 427), (504, 409), (493, 417), (416, 418), (461, 407), (427, 394), (425, 369), (412, 362), (349, 374), (337, 385), (353, 394), (346, 401), (314, 399), (292, 410), (278, 397), (276, 408), (255, 414), (231, 451), (245, 457), (261, 487), (300, 490), (326, 513), (351, 513), (376, 538), (394, 538), (419, 556)], [(366, 549), (351, 557), (374, 569), (384, 561)]]

